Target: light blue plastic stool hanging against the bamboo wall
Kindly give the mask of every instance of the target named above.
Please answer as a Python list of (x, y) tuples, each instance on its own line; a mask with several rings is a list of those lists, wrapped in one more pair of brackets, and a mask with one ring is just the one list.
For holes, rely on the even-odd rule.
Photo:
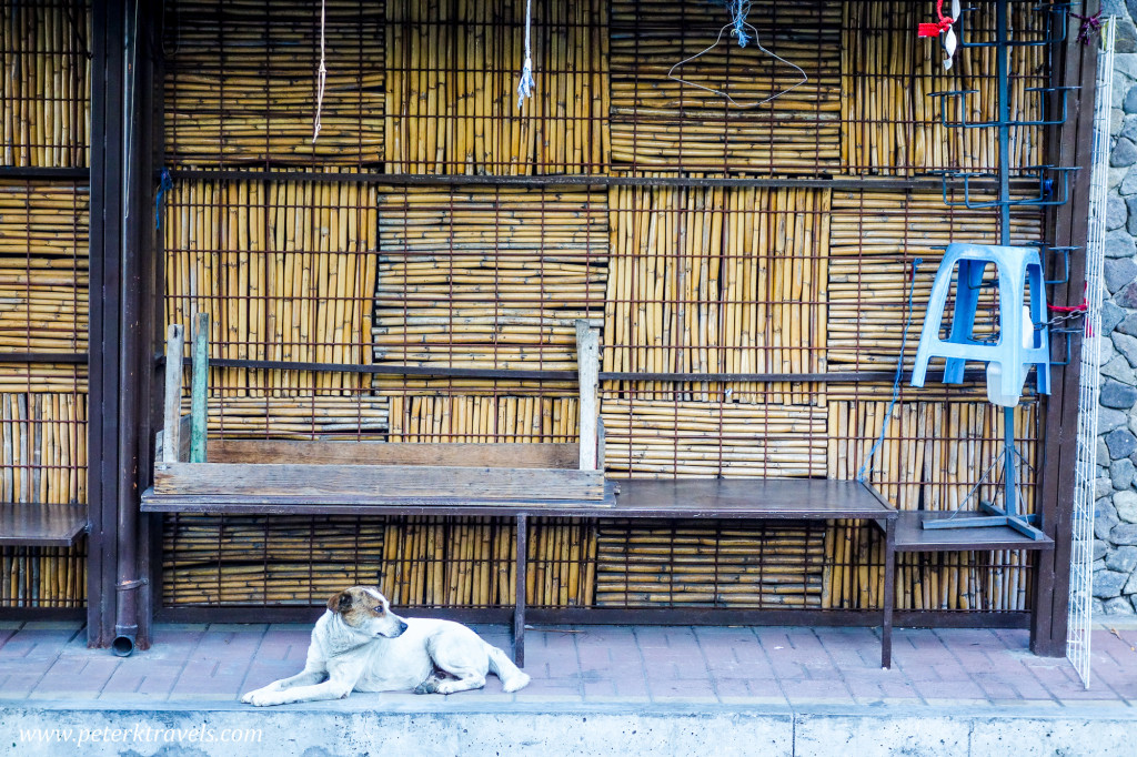
[[(958, 264), (958, 275), (952, 273)], [(974, 338), (976, 305), (984, 269), (994, 264), (998, 274), (998, 340), (994, 343)], [(954, 278), (954, 280), (953, 280)], [(1030, 284), (1030, 323), (1023, 323), (1023, 298)], [(955, 310), (947, 339), (939, 338), (947, 296), (955, 289)], [(1029, 331), (1023, 332), (1027, 328)], [(1023, 342), (1027, 342), (1026, 344)], [(931, 358), (946, 358), (944, 383), (963, 382), (968, 360), (982, 360), (997, 369), (988, 371), (988, 378), (999, 382), (997, 390), (988, 388), (988, 396), (997, 391), (1003, 398), (1018, 398), (1031, 366), (1039, 393), (1051, 393), (1049, 330), (1046, 326), (1046, 293), (1043, 289), (1043, 265), (1038, 250), (1032, 247), (998, 247), (994, 244), (951, 244), (936, 272), (931, 297), (924, 314), (920, 347), (912, 366), (912, 385), (923, 386)], [(1004, 405), (1005, 402), (998, 402)], [(1013, 402), (1012, 402), (1013, 405)]]

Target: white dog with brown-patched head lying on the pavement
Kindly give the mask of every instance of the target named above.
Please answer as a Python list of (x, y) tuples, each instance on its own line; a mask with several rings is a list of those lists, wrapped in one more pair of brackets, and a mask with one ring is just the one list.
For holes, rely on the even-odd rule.
[(454, 693), (482, 688), (488, 672), (501, 679), (504, 691), (529, 683), (504, 651), (460, 623), (401, 618), (377, 589), (351, 587), (327, 600), (304, 671), (241, 701), (264, 707), (342, 699), (352, 691)]

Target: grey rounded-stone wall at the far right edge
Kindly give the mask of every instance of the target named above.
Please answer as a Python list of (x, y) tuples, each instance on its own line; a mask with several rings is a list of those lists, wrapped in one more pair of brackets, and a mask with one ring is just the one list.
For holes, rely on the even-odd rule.
[(1102, 393), (1094, 514), (1094, 613), (1137, 613), (1137, 0), (1103, 0), (1119, 20), (1106, 206)]

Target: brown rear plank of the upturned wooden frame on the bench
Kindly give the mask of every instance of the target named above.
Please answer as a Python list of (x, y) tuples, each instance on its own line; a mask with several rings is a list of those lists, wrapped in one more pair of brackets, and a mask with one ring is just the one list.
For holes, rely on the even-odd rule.
[(575, 471), (580, 452), (574, 442), (402, 443), (372, 441), (283, 441), (227, 439), (209, 442), (215, 463), (319, 465), (442, 465), (473, 468), (565, 468)]

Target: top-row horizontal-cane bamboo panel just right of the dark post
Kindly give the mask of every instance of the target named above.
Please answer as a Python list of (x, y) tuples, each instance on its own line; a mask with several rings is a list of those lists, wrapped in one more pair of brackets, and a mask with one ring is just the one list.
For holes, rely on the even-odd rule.
[(356, 166), (383, 157), (383, 3), (167, 0), (166, 159), (184, 166)]

